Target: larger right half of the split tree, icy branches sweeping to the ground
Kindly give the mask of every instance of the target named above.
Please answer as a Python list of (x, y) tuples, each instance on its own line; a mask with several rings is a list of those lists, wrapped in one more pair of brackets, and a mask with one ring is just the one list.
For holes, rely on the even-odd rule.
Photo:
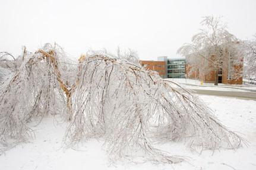
[(104, 137), (113, 160), (140, 148), (150, 160), (181, 161), (154, 148), (153, 138), (189, 139), (189, 145), (204, 149), (241, 145), (241, 138), (187, 90), (104, 53), (80, 58), (72, 102), (69, 142)]

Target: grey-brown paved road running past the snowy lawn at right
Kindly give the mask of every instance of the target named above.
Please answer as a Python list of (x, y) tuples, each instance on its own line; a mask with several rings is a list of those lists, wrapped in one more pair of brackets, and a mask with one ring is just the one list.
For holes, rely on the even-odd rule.
[(245, 100), (256, 100), (256, 92), (244, 92), (244, 91), (216, 91), (216, 90), (207, 90), (207, 89), (192, 89), (196, 94), (203, 95), (217, 95), (223, 97), (234, 97), (242, 98)]

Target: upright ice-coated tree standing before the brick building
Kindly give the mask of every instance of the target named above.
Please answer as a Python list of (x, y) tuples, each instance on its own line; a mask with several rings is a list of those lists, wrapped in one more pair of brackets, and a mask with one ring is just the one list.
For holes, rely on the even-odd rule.
[(218, 74), (223, 69), (225, 50), (238, 40), (226, 30), (227, 26), (220, 17), (204, 17), (201, 25), (203, 28), (192, 37), (192, 43), (184, 44), (178, 49), (178, 53), (189, 56), (189, 62), (197, 65), (201, 73), (207, 74), (213, 70), (214, 85), (218, 85)]

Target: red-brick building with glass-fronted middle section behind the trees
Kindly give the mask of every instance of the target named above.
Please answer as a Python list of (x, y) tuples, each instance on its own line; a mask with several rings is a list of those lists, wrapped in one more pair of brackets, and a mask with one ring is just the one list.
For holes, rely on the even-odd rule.
[[(230, 55), (232, 56), (232, 53), (225, 50), (223, 66), (218, 74), (218, 82), (223, 84), (242, 84), (242, 75), (239, 74), (241, 74), (243, 70), (243, 59), (241, 58), (238, 62), (233, 63), (232, 60), (230, 60)], [(212, 56), (211, 59), (214, 59), (214, 56)], [(187, 59), (184, 58), (168, 59), (167, 56), (160, 56), (157, 60), (158, 61), (140, 60), (140, 64), (146, 66), (147, 69), (158, 72), (162, 78), (199, 79), (206, 83), (214, 83), (214, 68), (209, 62), (207, 65), (205, 59), (200, 59), (199, 62), (202, 62), (204, 66), (207, 65), (206, 67), (209, 70), (207, 73), (200, 72), (197, 65), (189, 65)], [(238, 75), (234, 76), (234, 74)]]

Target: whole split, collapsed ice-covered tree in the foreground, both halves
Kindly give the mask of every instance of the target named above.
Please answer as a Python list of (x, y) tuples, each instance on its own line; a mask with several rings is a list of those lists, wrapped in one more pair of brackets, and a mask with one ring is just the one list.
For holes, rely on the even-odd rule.
[(112, 162), (134, 154), (157, 163), (183, 161), (154, 141), (184, 140), (200, 150), (242, 146), (197, 97), (138, 63), (91, 51), (75, 71), (72, 66), (56, 44), (26, 56), (0, 86), (0, 149), (26, 141), (33, 133), (28, 123), (48, 114), (68, 121), (67, 146), (101, 138)]

